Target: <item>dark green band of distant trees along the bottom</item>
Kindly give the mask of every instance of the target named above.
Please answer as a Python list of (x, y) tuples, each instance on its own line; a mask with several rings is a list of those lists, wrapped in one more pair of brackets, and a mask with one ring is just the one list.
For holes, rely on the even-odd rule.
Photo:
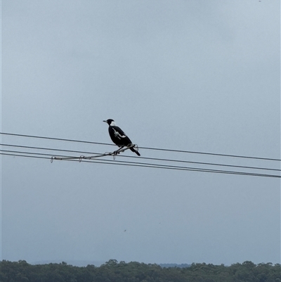
[(2, 260), (0, 270), (1, 282), (281, 282), (280, 264), (249, 261), (230, 267), (205, 263), (161, 267), (110, 259), (100, 267), (74, 267), (66, 262), (33, 265)]

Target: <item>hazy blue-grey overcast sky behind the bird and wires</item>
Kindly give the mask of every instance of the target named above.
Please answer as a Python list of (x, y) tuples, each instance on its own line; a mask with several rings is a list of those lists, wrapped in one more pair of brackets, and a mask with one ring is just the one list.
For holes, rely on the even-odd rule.
[[(280, 159), (279, 0), (9, 0), (1, 16), (1, 132), (111, 143), (112, 118), (139, 147)], [(280, 179), (2, 155), (1, 259), (280, 263)]]

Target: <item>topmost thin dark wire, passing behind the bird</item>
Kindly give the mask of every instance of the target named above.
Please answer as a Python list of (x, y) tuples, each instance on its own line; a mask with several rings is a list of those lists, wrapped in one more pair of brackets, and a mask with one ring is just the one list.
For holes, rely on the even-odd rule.
[[(97, 144), (97, 145), (106, 145), (106, 146), (114, 146), (110, 143), (101, 143), (101, 142), (93, 142), (93, 141), (81, 141), (81, 140), (74, 140), (74, 139), (60, 139), (60, 138), (53, 138), (53, 137), (45, 137), (45, 136), (34, 136), (34, 135), (25, 135), (25, 134), (11, 134), (0, 132), (2, 135), (9, 135), (9, 136), (21, 136), (21, 137), (29, 137), (35, 139), (49, 139), (49, 140), (56, 140), (56, 141), (69, 141), (69, 142), (79, 142), (79, 143), (89, 143), (89, 144)], [(174, 150), (174, 149), (164, 149), (164, 148), (152, 148), (152, 147), (138, 147), (145, 150), (161, 150), (166, 152), (175, 152), (175, 153), (191, 153), (191, 154), (200, 154), (200, 155), (216, 155), (221, 157), (230, 157), (230, 158), (247, 158), (247, 159), (254, 159), (254, 160), (272, 160), (272, 161), (281, 161), (277, 158), (261, 158), (261, 157), (251, 157), (246, 155), (228, 155), (228, 154), (221, 154), (221, 153), (206, 153), (206, 152), (198, 152), (198, 151), (190, 151), (190, 150)]]

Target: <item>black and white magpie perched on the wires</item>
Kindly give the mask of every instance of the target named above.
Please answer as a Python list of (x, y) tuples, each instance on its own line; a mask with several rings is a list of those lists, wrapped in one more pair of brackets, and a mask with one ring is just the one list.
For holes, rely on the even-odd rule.
[[(103, 120), (103, 122), (106, 122), (109, 127), (108, 127), (108, 132), (110, 134), (110, 138), (113, 141), (113, 143), (115, 143), (117, 146), (119, 147), (125, 147), (125, 146), (129, 146), (132, 144), (131, 140), (129, 139), (128, 136), (126, 136), (126, 134), (124, 133), (124, 131), (120, 128), (117, 127), (115, 124), (115, 121), (112, 119), (109, 120)], [(138, 153), (137, 150), (135, 150), (133, 147), (130, 148), (130, 150), (133, 153), (136, 153), (137, 155), (141, 155), (140, 153)]]

